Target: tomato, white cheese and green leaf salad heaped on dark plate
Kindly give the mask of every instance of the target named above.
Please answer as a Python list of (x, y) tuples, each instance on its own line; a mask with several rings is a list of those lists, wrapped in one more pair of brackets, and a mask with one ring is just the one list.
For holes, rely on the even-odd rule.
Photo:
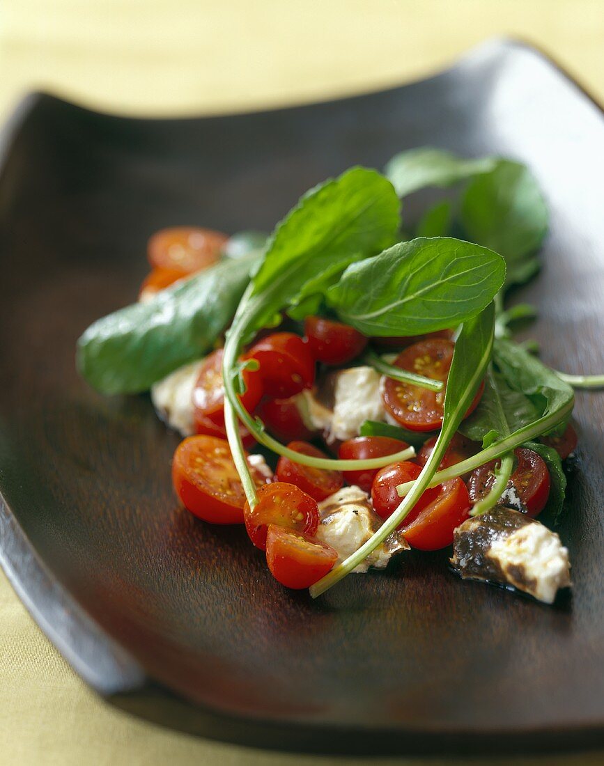
[[(411, 234), (404, 200), (428, 187)], [(77, 365), (103, 394), (151, 391), (185, 437), (182, 505), (245, 525), (285, 586), (316, 597), (449, 548), (462, 579), (551, 604), (570, 586), (553, 529), (573, 388), (604, 377), (513, 338), (536, 309), (506, 296), (540, 269), (547, 224), (519, 162), (401, 152), (310, 189), (269, 237), (157, 232), (139, 301), (84, 332)]]

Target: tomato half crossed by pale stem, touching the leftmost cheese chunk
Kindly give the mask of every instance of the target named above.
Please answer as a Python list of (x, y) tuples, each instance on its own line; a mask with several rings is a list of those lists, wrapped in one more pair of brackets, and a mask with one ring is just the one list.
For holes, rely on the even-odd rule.
[[(225, 422), (225, 385), (222, 381), (223, 349), (217, 349), (207, 356), (199, 370), (199, 376), (193, 389), (192, 401), (195, 417), (207, 418), (217, 425)], [(262, 378), (258, 370), (244, 370), (245, 393), (241, 394), (241, 404), (248, 412), (262, 398)]]

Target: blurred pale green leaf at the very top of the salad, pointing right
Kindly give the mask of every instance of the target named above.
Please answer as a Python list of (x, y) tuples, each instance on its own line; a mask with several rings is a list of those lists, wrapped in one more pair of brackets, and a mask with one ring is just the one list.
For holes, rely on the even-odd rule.
[(494, 157), (464, 159), (445, 149), (422, 146), (394, 155), (384, 172), (399, 197), (405, 197), (426, 186), (452, 186), (474, 175), (491, 171), (496, 163)]

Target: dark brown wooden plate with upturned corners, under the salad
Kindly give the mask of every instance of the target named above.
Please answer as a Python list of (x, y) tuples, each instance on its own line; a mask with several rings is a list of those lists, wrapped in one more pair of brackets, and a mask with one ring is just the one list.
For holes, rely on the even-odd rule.
[[(242, 529), (176, 507), (178, 442), (146, 396), (102, 398), (74, 343), (129, 303), (149, 234), (270, 229), (354, 163), (432, 144), (529, 162), (553, 221), (534, 335), (602, 371), (604, 119), (542, 55), (487, 44), (396, 90), (209, 119), (122, 119), (48, 95), (4, 133), (0, 175), (2, 565), (78, 673), (123, 709), (242, 744), (348, 753), (604, 742), (601, 394), (579, 394), (560, 534), (572, 597), (544, 607), (405, 555), (313, 602)], [(413, 205), (409, 206), (413, 214)]]

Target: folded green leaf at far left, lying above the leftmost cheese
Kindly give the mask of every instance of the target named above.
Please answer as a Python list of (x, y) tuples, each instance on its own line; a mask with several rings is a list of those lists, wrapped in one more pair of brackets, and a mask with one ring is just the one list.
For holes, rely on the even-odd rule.
[(77, 342), (77, 367), (103, 394), (133, 394), (212, 348), (260, 255), (222, 260), (185, 283), (98, 319)]

